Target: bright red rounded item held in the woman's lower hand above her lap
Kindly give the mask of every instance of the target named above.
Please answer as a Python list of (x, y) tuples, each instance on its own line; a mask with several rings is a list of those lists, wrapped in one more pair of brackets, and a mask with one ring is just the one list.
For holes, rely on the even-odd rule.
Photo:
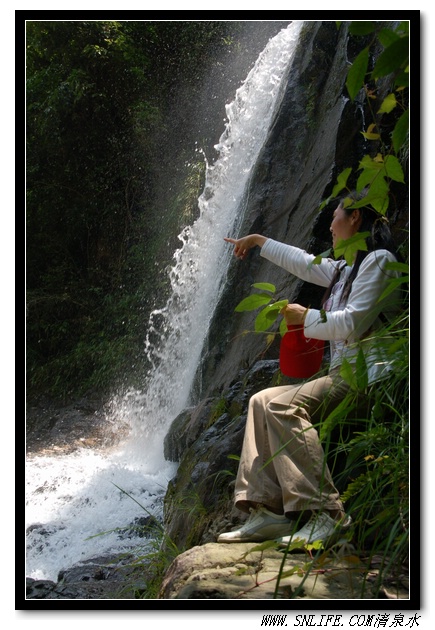
[(323, 339), (305, 337), (303, 326), (287, 325), (279, 351), (281, 372), (292, 378), (313, 376), (320, 370), (324, 348)]

